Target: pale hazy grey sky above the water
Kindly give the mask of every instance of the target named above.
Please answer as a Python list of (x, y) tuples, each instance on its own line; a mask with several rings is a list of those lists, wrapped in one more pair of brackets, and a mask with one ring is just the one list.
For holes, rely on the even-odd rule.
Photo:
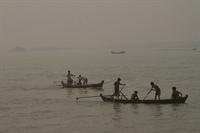
[(0, 48), (199, 42), (200, 0), (0, 0)]

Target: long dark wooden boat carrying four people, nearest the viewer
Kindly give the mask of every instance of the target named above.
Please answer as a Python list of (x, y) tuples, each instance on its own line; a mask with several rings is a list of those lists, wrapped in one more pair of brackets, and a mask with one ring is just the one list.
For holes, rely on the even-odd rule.
[(178, 99), (161, 99), (161, 100), (130, 100), (130, 99), (114, 99), (112, 96), (105, 96), (100, 94), (100, 97), (104, 102), (114, 102), (114, 103), (132, 103), (132, 104), (178, 104), (185, 103), (188, 95)]

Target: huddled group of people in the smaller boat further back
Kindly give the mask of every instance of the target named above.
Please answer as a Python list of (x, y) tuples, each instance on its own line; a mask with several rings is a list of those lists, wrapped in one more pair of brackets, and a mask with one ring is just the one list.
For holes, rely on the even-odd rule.
[(75, 82), (75, 81), (73, 80), (73, 78), (74, 78), (75, 76), (76, 76), (76, 75), (72, 74), (70, 70), (67, 71), (67, 75), (66, 75), (66, 77), (67, 77), (67, 85), (73, 85), (74, 83), (75, 83), (76, 85), (87, 85), (88, 79), (87, 79), (86, 77), (83, 77), (83, 76), (79, 75), (79, 76), (77, 77), (77, 82)]

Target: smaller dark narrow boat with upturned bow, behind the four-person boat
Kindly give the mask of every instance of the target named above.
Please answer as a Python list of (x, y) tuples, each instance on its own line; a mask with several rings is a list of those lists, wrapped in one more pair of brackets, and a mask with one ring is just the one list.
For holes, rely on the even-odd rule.
[(104, 80), (102, 80), (100, 83), (86, 84), (86, 85), (67, 85), (64, 81), (61, 81), (61, 85), (64, 88), (102, 88), (103, 84), (104, 84)]

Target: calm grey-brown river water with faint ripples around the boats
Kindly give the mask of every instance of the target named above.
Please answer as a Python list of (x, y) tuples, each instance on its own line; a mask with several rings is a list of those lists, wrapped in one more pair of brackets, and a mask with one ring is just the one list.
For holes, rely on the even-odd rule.
[[(199, 133), (200, 47), (152, 46), (123, 49), (69, 49), (2, 52), (0, 57), (0, 133)], [(87, 76), (90, 83), (105, 80), (102, 90), (63, 89), (56, 84), (64, 73)], [(161, 98), (176, 86), (189, 98), (180, 105), (105, 103), (121, 77), (123, 93), (138, 90), (142, 99), (155, 81)], [(147, 99), (153, 99), (154, 94)]]

